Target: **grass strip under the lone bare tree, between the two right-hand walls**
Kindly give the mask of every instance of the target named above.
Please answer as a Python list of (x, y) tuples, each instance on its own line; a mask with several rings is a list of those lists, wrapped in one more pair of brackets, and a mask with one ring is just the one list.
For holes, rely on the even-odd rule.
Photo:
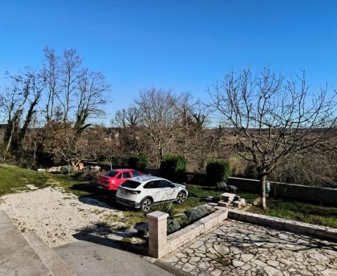
[(337, 207), (269, 198), (265, 212), (260, 207), (251, 207), (249, 212), (337, 228)]

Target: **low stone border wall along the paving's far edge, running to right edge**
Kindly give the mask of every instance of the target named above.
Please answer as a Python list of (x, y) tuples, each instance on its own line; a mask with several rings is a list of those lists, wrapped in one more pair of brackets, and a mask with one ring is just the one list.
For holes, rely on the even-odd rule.
[(228, 209), (228, 218), (237, 221), (244, 221), (260, 226), (267, 226), (278, 230), (286, 230), (293, 233), (311, 235), (322, 240), (337, 242), (337, 229), (324, 226), (317, 226), (310, 223), (291, 221), (289, 219), (279, 219), (274, 216), (253, 214), (237, 209)]

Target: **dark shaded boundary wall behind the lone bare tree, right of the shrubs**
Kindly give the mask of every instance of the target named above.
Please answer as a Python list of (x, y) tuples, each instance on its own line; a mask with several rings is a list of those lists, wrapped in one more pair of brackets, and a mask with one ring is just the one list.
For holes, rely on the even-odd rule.
[[(319, 188), (297, 184), (270, 182), (270, 195), (275, 198), (315, 202), (322, 205), (337, 206), (337, 189)], [(255, 179), (229, 177), (228, 184), (239, 188), (239, 191), (260, 193), (260, 182)]]

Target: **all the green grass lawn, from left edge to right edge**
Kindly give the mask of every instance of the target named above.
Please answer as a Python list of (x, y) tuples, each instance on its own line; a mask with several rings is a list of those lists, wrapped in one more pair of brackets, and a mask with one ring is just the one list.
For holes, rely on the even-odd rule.
[[(126, 224), (126, 227), (132, 227), (135, 226), (136, 223), (146, 221), (146, 216), (143, 212), (118, 205), (114, 201), (114, 193), (99, 191), (95, 188), (95, 184), (91, 184), (88, 181), (79, 181), (74, 178), (68, 179), (65, 174), (35, 172), (11, 165), (0, 164), (0, 200), (2, 195), (26, 190), (27, 184), (32, 184), (38, 188), (61, 186), (65, 189), (66, 193), (77, 195), (80, 200), (81, 198), (88, 197), (105, 202), (113, 208), (123, 211), (123, 222)], [(182, 205), (174, 205), (179, 212), (197, 207), (198, 205), (204, 205), (206, 203), (204, 198), (218, 196), (223, 193), (216, 191), (213, 187), (191, 184), (187, 184), (187, 191), (189, 191), (187, 200)], [(255, 193), (239, 192), (237, 194), (245, 198), (246, 202), (251, 202), (259, 196)], [(249, 212), (337, 228), (337, 207), (324, 207), (307, 202), (269, 198), (265, 212), (260, 207), (251, 207)], [(107, 217), (107, 222), (116, 219), (118, 218)]]

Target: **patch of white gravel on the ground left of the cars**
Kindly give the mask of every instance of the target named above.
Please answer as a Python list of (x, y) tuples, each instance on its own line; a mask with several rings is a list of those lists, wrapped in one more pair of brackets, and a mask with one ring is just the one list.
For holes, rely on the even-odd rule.
[[(123, 213), (91, 198), (77, 198), (62, 188), (47, 187), (5, 195), (0, 198), (4, 209), (20, 230), (34, 230), (51, 247), (74, 242), (82, 228), (104, 221), (105, 216), (123, 217)], [(120, 219), (117, 218), (117, 221)]]

